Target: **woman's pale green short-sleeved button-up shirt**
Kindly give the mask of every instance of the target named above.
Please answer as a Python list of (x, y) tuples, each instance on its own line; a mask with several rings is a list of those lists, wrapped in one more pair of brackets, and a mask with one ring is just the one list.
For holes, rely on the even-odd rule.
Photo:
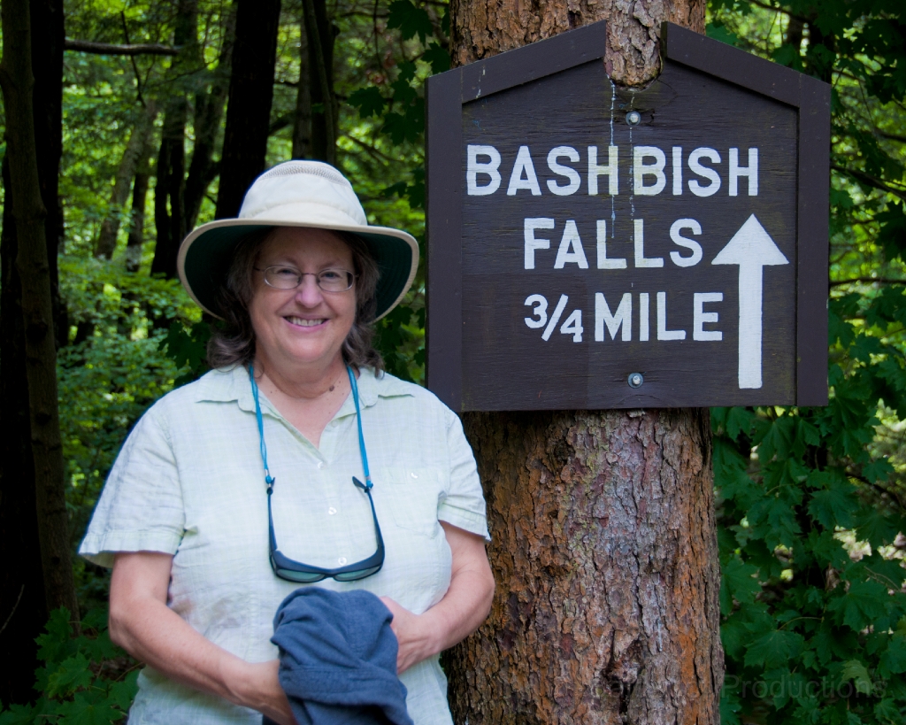
[[(377, 575), (314, 586), (365, 589), (421, 614), (450, 582), (439, 521), (487, 538), (475, 459), (458, 417), (432, 393), (389, 374), (359, 379), (372, 496), (386, 546)], [(316, 449), (262, 395), (274, 488), (277, 545), (306, 564), (336, 567), (371, 556), (374, 525), (362, 478), (352, 396)], [(158, 401), (130, 433), (95, 509), (80, 553), (112, 565), (113, 553), (173, 556), (169, 607), (207, 639), (248, 662), (277, 656), (277, 606), (297, 585), (267, 560), (267, 500), (245, 368), (212, 371)], [(450, 725), (438, 658), (400, 678), (416, 725)], [(259, 723), (261, 715), (191, 690), (146, 667), (130, 710), (143, 723)]]

